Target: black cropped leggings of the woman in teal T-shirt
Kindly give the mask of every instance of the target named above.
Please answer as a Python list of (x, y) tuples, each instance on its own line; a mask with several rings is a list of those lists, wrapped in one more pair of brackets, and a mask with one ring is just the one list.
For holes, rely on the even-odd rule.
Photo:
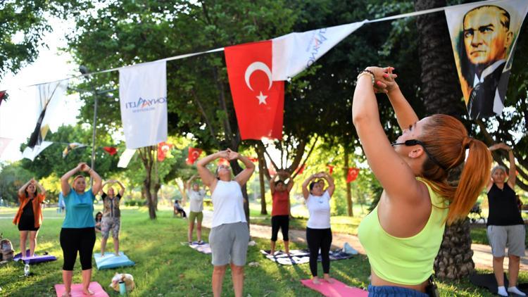
[(92, 269), (92, 253), (95, 245), (95, 228), (63, 228), (61, 229), (61, 248), (63, 249), (63, 270), (72, 271), (77, 251), (81, 260), (82, 270)]

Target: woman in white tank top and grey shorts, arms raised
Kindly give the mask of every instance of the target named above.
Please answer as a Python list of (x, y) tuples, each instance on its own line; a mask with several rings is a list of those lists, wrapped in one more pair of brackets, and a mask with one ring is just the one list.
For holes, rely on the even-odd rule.
[[(216, 175), (210, 172), (206, 165), (211, 161), (225, 158), (241, 160), (246, 166), (232, 179), (229, 165), (219, 165)], [(244, 265), (249, 241), (249, 228), (244, 213), (244, 196), (241, 187), (255, 171), (255, 165), (236, 151), (227, 148), (225, 151), (213, 153), (196, 163), (203, 184), (209, 187), (213, 200), (213, 224), (209, 234), (209, 244), (213, 263), (213, 295), (222, 295), (222, 282), (227, 269), (231, 265), (233, 291), (235, 296), (242, 296), (244, 289)]]

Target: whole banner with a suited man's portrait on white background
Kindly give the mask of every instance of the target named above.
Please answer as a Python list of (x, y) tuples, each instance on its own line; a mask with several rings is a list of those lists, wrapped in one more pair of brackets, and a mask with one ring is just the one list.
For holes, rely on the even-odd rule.
[(458, 77), (472, 119), (500, 115), (527, 0), (446, 8)]

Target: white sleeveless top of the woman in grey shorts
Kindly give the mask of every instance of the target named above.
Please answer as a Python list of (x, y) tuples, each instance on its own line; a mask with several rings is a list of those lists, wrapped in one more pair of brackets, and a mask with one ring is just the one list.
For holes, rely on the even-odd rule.
[(213, 224), (211, 228), (222, 224), (247, 222), (244, 213), (244, 196), (240, 184), (234, 180), (218, 180), (215, 191), (211, 194), (213, 201)]

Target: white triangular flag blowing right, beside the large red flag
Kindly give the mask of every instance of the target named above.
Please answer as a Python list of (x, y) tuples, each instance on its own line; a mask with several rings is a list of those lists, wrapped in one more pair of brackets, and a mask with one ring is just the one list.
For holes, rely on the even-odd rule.
[(364, 23), (290, 33), (272, 39), (272, 79), (287, 80), (298, 75)]

